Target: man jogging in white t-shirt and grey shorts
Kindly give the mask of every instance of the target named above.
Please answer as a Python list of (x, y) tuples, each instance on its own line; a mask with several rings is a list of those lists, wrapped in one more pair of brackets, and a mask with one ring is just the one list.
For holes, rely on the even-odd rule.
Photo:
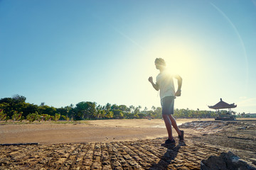
[[(160, 89), (162, 116), (164, 118), (164, 123), (166, 125), (166, 130), (168, 132), (169, 138), (165, 141), (165, 144), (175, 144), (174, 137), (172, 135), (171, 125), (174, 127), (178, 133), (178, 140), (183, 141), (184, 131), (179, 130), (176, 120), (173, 116), (174, 114), (174, 98), (176, 96), (181, 96), (181, 85), (182, 79), (178, 75), (171, 75), (166, 71), (166, 62), (164, 59), (156, 58), (155, 60), (156, 69), (159, 69), (160, 73), (156, 77), (156, 84), (153, 82), (153, 78), (149, 77), (149, 82), (152, 84), (156, 91)], [(178, 80), (178, 89), (175, 92), (174, 80)]]

